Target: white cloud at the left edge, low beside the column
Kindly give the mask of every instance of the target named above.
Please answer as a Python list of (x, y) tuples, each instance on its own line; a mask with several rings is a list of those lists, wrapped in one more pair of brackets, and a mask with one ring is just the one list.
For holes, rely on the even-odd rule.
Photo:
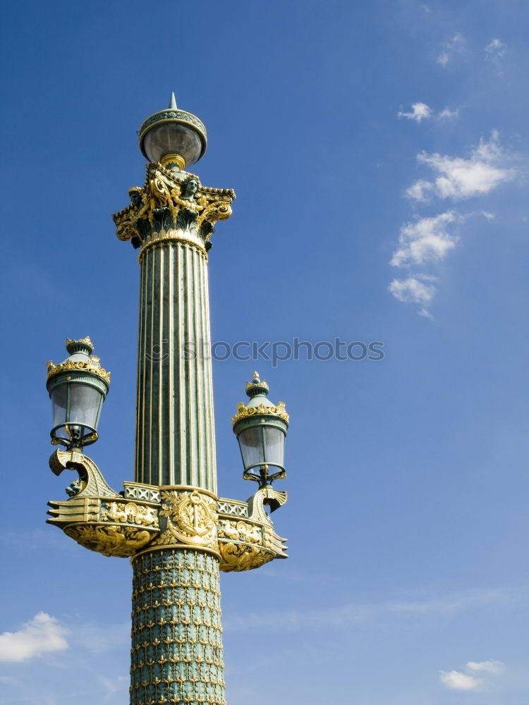
[(49, 651), (68, 649), (66, 629), (45, 612), (39, 612), (18, 632), (0, 635), (0, 661), (26, 661)]

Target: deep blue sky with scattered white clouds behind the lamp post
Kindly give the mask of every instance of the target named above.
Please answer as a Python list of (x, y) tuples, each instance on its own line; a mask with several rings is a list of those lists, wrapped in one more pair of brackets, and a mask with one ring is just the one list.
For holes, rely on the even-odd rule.
[(133, 477), (138, 265), (110, 215), (135, 130), (207, 125), (234, 188), (214, 341), (384, 343), (384, 359), (214, 363), (219, 492), (254, 369), (291, 414), (290, 558), (222, 578), (230, 705), (528, 701), (524, 1), (4, 4), (0, 699), (127, 701), (130, 566), (45, 524), (68, 484), (45, 362), (112, 372), (91, 457)]

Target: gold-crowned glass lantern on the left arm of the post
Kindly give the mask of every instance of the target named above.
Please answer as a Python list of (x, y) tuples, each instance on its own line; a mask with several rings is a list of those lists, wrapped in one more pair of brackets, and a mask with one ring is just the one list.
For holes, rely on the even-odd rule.
[(89, 446), (97, 441), (99, 414), (107, 396), (110, 373), (92, 355), (90, 338), (66, 341), (70, 353), (64, 362), (48, 362), (47, 390), (53, 407), (51, 443), (66, 448)]

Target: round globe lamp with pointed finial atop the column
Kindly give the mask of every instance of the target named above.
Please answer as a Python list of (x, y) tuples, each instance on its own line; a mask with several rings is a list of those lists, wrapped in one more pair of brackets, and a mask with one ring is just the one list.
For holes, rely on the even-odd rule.
[(174, 93), (169, 108), (145, 119), (138, 135), (145, 159), (177, 171), (202, 159), (207, 147), (204, 123), (196, 115), (178, 109)]

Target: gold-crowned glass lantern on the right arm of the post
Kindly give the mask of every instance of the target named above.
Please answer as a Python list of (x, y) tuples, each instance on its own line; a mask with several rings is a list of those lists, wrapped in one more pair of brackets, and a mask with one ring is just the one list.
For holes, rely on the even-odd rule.
[[(239, 404), (231, 419), (243, 457), (243, 478), (255, 480), (260, 487), (286, 477), (284, 455), (288, 414), (282, 401), (274, 406), (267, 398), (268, 391), (266, 381), (261, 381), (255, 372), (253, 380), (246, 383), (250, 401)], [(270, 467), (278, 470), (270, 473)]]

